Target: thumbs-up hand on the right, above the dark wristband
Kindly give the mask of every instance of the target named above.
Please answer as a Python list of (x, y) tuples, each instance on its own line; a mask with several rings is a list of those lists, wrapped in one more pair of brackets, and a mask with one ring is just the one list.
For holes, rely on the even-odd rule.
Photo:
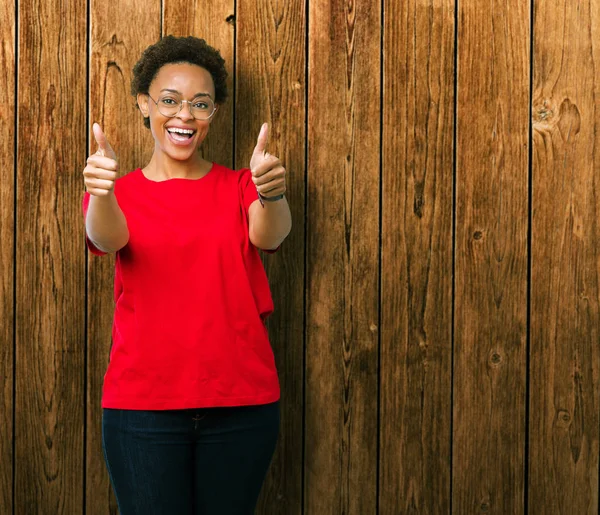
[(266, 152), (268, 139), (269, 124), (264, 123), (250, 159), (252, 181), (256, 185), (259, 196), (265, 200), (282, 195), (287, 189), (285, 185), (285, 168), (279, 158)]

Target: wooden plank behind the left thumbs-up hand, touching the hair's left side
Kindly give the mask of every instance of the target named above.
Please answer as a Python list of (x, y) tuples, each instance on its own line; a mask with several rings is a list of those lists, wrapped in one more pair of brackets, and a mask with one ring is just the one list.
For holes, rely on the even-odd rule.
[[(154, 140), (130, 94), (131, 70), (142, 51), (160, 38), (160, 0), (144, 4), (91, 2), (90, 120), (88, 154), (96, 151), (91, 125), (98, 122), (119, 158), (120, 174), (144, 166)], [(118, 13), (118, 14), (117, 14)], [(135, 20), (135, 22), (132, 22)], [(85, 162), (78, 168), (83, 170)], [(102, 454), (102, 384), (114, 314), (114, 256), (89, 257), (86, 513), (116, 512)]]

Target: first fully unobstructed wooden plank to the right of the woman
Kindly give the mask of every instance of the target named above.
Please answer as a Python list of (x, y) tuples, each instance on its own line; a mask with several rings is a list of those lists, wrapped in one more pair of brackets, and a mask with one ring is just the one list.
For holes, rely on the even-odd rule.
[(307, 514), (374, 513), (379, 1), (309, 3)]

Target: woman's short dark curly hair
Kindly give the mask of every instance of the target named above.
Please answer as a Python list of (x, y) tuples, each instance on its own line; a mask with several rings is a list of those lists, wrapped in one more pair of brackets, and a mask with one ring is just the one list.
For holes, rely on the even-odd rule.
[[(205, 68), (215, 85), (215, 103), (222, 104), (228, 96), (227, 70), (221, 53), (211, 47), (204, 39), (194, 36), (165, 36), (150, 45), (133, 67), (131, 94), (148, 93), (150, 84), (165, 64), (189, 63)], [(150, 119), (144, 118), (144, 126), (150, 128)]]

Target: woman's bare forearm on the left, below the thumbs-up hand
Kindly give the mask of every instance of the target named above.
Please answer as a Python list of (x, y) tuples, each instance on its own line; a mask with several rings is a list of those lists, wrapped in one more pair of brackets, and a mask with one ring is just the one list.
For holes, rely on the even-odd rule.
[(90, 195), (85, 228), (90, 240), (106, 252), (116, 252), (129, 241), (127, 220), (114, 193)]

